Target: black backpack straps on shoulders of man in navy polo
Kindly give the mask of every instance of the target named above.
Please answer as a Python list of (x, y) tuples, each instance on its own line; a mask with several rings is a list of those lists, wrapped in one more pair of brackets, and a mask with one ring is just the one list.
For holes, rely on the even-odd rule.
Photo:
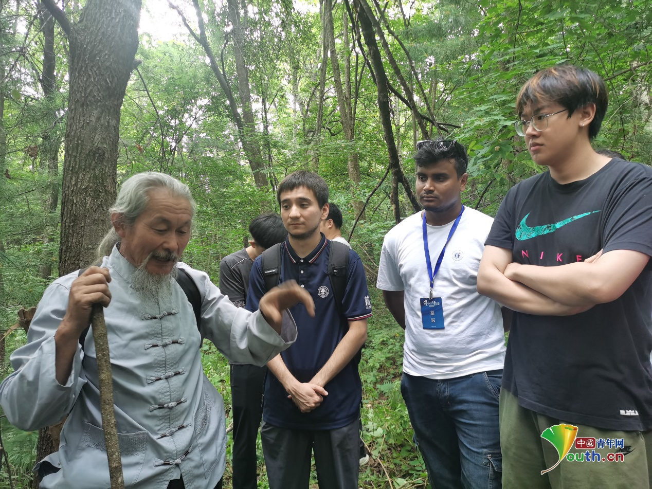
[[(261, 265), (265, 279), (265, 291), (276, 287), (281, 278), (281, 253), (285, 242), (274, 244), (263, 251)], [(335, 297), (335, 306), (344, 316), (344, 291), (346, 289), (346, 273), (349, 266), (349, 247), (338, 241), (331, 241), (331, 252), (328, 257), (328, 276)]]

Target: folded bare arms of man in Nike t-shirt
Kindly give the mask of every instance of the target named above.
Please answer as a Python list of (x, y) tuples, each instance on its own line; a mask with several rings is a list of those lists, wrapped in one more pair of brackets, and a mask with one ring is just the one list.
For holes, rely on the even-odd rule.
[(647, 261), (641, 252), (613, 250), (583, 262), (541, 267), (512, 263), (511, 250), (486, 246), (478, 292), (527, 314), (571, 316), (620, 297)]

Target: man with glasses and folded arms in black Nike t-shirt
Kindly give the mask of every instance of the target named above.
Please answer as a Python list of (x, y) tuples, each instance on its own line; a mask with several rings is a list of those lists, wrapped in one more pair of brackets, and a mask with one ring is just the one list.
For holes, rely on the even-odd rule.
[[(589, 70), (538, 72), (516, 108), (516, 132), (548, 171), (507, 193), (478, 273), (478, 291), (516, 311), (503, 488), (647, 488), (652, 169), (593, 151), (607, 93)], [(587, 459), (600, 463), (571, 463)]]

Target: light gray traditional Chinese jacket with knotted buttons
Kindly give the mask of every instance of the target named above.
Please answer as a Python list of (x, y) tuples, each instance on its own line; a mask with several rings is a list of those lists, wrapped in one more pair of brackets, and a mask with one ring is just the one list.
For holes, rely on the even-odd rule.
[[(294, 342), (296, 325), (286, 315), (278, 336), (260, 312), (236, 308), (207, 274), (179, 263), (200, 290), (198, 329), (176, 282), (170, 304), (148, 303), (135, 293), (135, 269), (117, 248), (102, 267), (112, 279), (104, 315), (125, 486), (160, 489), (183, 475), (188, 489), (212, 489), (224, 472), (226, 425), (222, 396), (201, 368), (201, 336), (230, 360), (263, 365)], [(11, 356), (16, 371), (0, 385), (7, 419), (18, 428), (37, 430), (70, 413), (59, 451), (46, 457), (61, 470), (44, 477), (45, 489), (110, 487), (92, 331), (78, 347), (67, 383), (55, 379), (54, 333), (77, 276), (63, 276), (46, 289), (29, 343)]]

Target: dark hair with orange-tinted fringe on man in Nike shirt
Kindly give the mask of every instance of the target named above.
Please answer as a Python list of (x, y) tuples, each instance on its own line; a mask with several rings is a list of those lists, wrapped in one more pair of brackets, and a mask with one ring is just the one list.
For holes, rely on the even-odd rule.
[(569, 119), (578, 108), (595, 104), (595, 115), (589, 124), (589, 139), (593, 139), (600, 132), (609, 96), (602, 78), (591, 70), (574, 65), (556, 65), (537, 72), (527, 80), (516, 97), (516, 113), (521, 117), (527, 106), (546, 102), (557, 102), (568, 110)]

